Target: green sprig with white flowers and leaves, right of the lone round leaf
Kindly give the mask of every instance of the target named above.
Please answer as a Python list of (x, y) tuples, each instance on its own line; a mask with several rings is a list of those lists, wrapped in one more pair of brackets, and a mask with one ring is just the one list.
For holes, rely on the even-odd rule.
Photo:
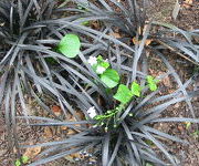
[[(97, 58), (90, 56), (87, 61), (96, 74), (100, 75), (102, 82), (104, 82), (109, 89), (113, 89), (118, 85), (121, 80), (117, 71), (111, 69), (109, 63), (98, 55)], [(149, 86), (150, 91), (157, 90), (158, 80), (155, 80), (153, 76), (148, 75), (147, 77), (147, 86)], [(105, 126), (105, 132), (108, 129), (108, 125), (113, 125), (114, 127), (118, 126), (119, 118), (117, 116), (118, 113), (124, 112), (126, 106), (134, 97), (140, 97), (143, 87), (134, 81), (128, 89), (127, 85), (119, 84), (116, 94), (113, 96), (116, 101), (121, 102), (118, 106), (113, 110), (108, 110), (103, 115), (96, 115), (96, 111), (94, 107), (88, 110), (90, 117), (97, 121), (95, 126)], [(132, 114), (129, 114), (133, 116)], [(94, 126), (94, 127), (95, 127)]]

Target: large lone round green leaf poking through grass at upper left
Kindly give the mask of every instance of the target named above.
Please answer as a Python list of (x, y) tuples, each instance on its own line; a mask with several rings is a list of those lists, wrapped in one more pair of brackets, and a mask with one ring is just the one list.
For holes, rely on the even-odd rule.
[(67, 58), (75, 58), (80, 53), (80, 48), (81, 42), (75, 34), (66, 34), (57, 45), (57, 50)]

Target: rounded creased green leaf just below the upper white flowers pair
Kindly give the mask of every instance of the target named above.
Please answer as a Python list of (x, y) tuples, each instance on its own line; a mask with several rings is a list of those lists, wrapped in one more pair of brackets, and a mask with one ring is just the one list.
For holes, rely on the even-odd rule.
[(117, 71), (107, 69), (102, 75), (101, 81), (104, 82), (109, 89), (115, 87), (119, 82), (119, 75)]

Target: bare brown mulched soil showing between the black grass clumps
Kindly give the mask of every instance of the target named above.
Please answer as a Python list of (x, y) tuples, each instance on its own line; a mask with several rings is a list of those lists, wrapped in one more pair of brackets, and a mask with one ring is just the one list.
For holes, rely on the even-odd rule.
[[(198, 29), (199, 24), (199, 19), (197, 12), (199, 11), (199, 2), (193, 1), (193, 3), (190, 4), (190, 7), (182, 8), (180, 10), (178, 18), (176, 21), (171, 19), (171, 11), (172, 7), (176, 1), (170, 0), (170, 1), (155, 1), (151, 0), (149, 2), (150, 8), (148, 9), (148, 17), (155, 17), (155, 20), (157, 21), (165, 21), (169, 23), (174, 23), (177, 27), (184, 29), (184, 30), (193, 30)], [(153, 11), (153, 14), (151, 14)], [(192, 20), (192, 21), (190, 21)], [(85, 22), (84, 22), (85, 23)], [(92, 28), (101, 30), (101, 24), (98, 22), (93, 22)], [(123, 35), (123, 33), (118, 32), (113, 32), (113, 35), (115, 38)], [(85, 40), (86, 41), (86, 40)], [(92, 42), (92, 41), (91, 41)], [(196, 41), (198, 42), (198, 39), (196, 38)], [(132, 44), (132, 43), (130, 43)], [(195, 64), (186, 61), (182, 58), (179, 58), (172, 51), (166, 50), (165, 52), (166, 58), (168, 59), (168, 62), (175, 66), (175, 70), (177, 71), (180, 80), (182, 83), (185, 83), (187, 80), (189, 80), (193, 74), (196, 74), (196, 71), (193, 70), (196, 68)], [(163, 64), (163, 61), (159, 56), (150, 54), (147, 55), (148, 58), (148, 68), (149, 68), (149, 75), (154, 77), (158, 77), (159, 75), (166, 74), (168, 72), (168, 69), (165, 64)], [(78, 60), (77, 60), (78, 61)], [(108, 66), (109, 68), (109, 66)], [(197, 68), (196, 68), (197, 69)], [(43, 72), (43, 71), (42, 71)], [(41, 72), (41, 73), (42, 73)], [(64, 75), (66, 76), (66, 75)], [(74, 77), (73, 77), (74, 79)], [(191, 91), (198, 91), (198, 77), (195, 77), (196, 81), (191, 86), (188, 87), (188, 90)], [(164, 91), (159, 92), (158, 95), (166, 95), (166, 94), (171, 94), (176, 90), (178, 90), (178, 83), (175, 82), (175, 79), (172, 76), (166, 76), (161, 82), (159, 83), (159, 87), (163, 87)], [(53, 116), (50, 113), (46, 113), (46, 111), (41, 107), (35, 101), (35, 98), (25, 96), (25, 104), (29, 107), (29, 115), (33, 116), (41, 116), (41, 117), (50, 117), (53, 118)], [(66, 98), (66, 100), (70, 100)], [(60, 103), (54, 100), (53, 97), (46, 97), (43, 96), (43, 101), (49, 106), (57, 116), (62, 117), (62, 107)], [(98, 97), (97, 104), (100, 106), (103, 106), (103, 100)], [(195, 96), (192, 98), (192, 106), (196, 113), (196, 117), (199, 117), (199, 97)], [(155, 104), (160, 104), (160, 103), (155, 103)], [(151, 107), (155, 106), (151, 105)], [(73, 105), (74, 106), (74, 105)], [(17, 112), (18, 115), (22, 115), (22, 107), (20, 104), (17, 104)], [(75, 110), (75, 114), (78, 115), (81, 121), (85, 120), (85, 115), (82, 114), (80, 110)], [(76, 118), (74, 118), (71, 114), (66, 116), (67, 118), (64, 120), (66, 122), (76, 122)], [(191, 117), (191, 112), (189, 111), (189, 107), (187, 106), (186, 102), (180, 102), (176, 103), (174, 105), (170, 105), (166, 112), (161, 114), (161, 117)], [(34, 120), (31, 121), (31, 123), (34, 123)], [(17, 156), (17, 149), (14, 149), (15, 154), (11, 154), (8, 148), (8, 133), (6, 132), (6, 122), (4, 122), (4, 116), (0, 117), (0, 165), (12, 165), (13, 158), (18, 158)], [(76, 125), (75, 127), (80, 127), (80, 125)], [(91, 124), (87, 124), (87, 128), (92, 128)], [(197, 133), (197, 125), (196, 124), (190, 124), (188, 125), (187, 123), (157, 123), (154, 125), (156, 129), (163, 131), (165, 133), (168, 133), (170, 135), (178, 136), (180, 138), (187, 139), (190, 145), (182, 145), (179, 143), (174, 143), (171, 141), (166, 141), (163, 139), (163, 142), (169, 147), (169, 153), (174, 154), (177, 156), (175, 158), (176, 163), (179, 165), (185, 165), (185, 166), (197, 166), (198, 160), (199, 160), (199, 134)], [(65, 137), (65, 135), (75, 135), (80, 131), (78, 129), (71, 129), (64, 126), (28, 126), (24, 125), (24, 121), (18, 120), (18, 127), (17, 127), (17, 133), (18, 133), (18, 138), (19, 138), (19, 144), (28, 144), (28, 145), (34, 145), (34, 144), (40, 144), (40, 143), (49, 143), (52, 141), (62, 141), (62, 138)], [(105, 131), (106, 133), (106, 131)], [(159, 157), (165, 160), (166, 158), (163, 156), (160, 153), (159, 148), (153, 147), (154, 145), (151, 143), (147, 143), (151, 145), (151, 148), (157, 152)], [(38, 155), (40, 155), (44, 147), (39, 147), (35, 149), (32, 149), (30, 152), (29, 148), (24, 148), (21, 151), (21, 154), (29, 154), (30, 156), (33, 155), (34, 157), (32, 158), (31, 162), (36, 162), (38, 160)], [(97, 157), (101, 155), (97, 155)], [(51, 165), (51, 166), (70, 166), (70, 165), (96, 165), (100, 166), (101, 162), (100, 158), (95, 157), (95, 149), (91, 148), (91, 152), (81, 152), (80, 153), (74, 153), (72, 155), (69, 155), (65, 157), (62, 157), (60, 159), (53, 160), (48, 164), (43, 165)]]

